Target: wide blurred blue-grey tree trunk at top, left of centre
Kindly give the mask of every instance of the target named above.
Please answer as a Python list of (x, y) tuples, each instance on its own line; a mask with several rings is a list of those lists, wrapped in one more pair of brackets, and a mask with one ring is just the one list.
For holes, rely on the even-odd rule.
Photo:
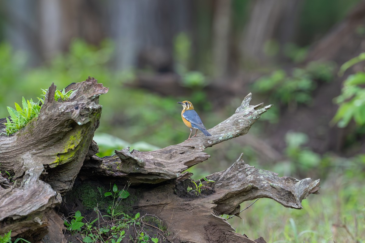
[(117, 68), (172, 71), (173, 39), (189, 31), (191, 1), (112, 1), (109, 12)]

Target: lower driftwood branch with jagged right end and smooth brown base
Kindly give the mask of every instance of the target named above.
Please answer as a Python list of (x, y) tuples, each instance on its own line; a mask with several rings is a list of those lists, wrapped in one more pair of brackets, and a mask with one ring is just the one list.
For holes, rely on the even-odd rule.
[(179, 178), (154, 189), (142, 190), (134, 207), (139, 211), (155, 212), (182, 242), (253, 243), (246, 236), (235, 233), (219, 215), (239, 216), (243, 201), (261, 197), (300, 209), (301, 200), (310, 193), (318, 193), (319, 189), (319, 180), (278, 177), (274, 172), (255, 169), (245, 164), (242, 154), (230, 168), (209, 175), (207, 179), (215, 181), (208, 189), (211, 194), (194, 197), (187, 192), (189, 180)]

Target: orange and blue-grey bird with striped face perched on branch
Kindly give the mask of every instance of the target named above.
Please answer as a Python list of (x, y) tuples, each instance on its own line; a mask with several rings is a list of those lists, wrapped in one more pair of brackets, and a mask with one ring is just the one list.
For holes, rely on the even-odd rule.
[(183, 102), (177, 102), (178, 104), (183, 106), (183, 111), (181, 111), (181, 118), (183, 118), (183, 122), (185, 125), (190, 128), (190, 134), (186, 141), (192, 140), (190, 138), (191, 133), (193, 132), (193, 129), (196, 129), (195, 135), (198, 132), (198, 129), (204, 133), (205, 136), (212, 136), (210, 133), (208, 133), (207, 129), (203, 125), (203, 122), (201, 121), (198, 113), (194, 110), (194, 106), (190, 101), (183, 101)]

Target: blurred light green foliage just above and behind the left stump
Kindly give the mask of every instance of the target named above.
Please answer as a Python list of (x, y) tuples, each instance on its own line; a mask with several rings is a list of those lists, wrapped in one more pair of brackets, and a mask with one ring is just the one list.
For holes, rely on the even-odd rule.
[[(96, 47), (76, 39), (70, 44), (68, 53), (59, 54), (45, 66), (27, 69), (26, 56), (12, 50), (9, 44), (1, 43), (0, 80), (3, 82), (0, 103), (17, 98), (19, 94), (30, 97), (38, 93), (39, 87), (48, 87), (50, 82), (57, 83), (61, 89), (71, 82), (83, 81), (88, 76), (97, 78), (99, 82), (120, 82), (125, 75), (111, 71), (108, 67), (113, 54), (114, 45), (110, 40), (104, 40)], [(120, 78), (116, 78), (119, 75)]]

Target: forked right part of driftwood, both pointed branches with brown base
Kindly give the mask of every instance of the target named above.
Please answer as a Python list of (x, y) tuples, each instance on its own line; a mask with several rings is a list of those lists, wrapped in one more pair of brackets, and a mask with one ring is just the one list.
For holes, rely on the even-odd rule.
[[(191, 173), (181, 174), (210, 157), (203, 152), (205, 148), (246, 134), (261, 114), (271, 107), (262, 107), (262, 103), (250, 105), (250, 101), (251, 94), (245, 97), (235, 114), (210, 129), (212, 137), (199, 134), (193, 140), (152, 152), (130, 152), (126, 148), (116, 150), (114, 156), (93, 156), (85, 161), (80, 174), (85, 177), (112, 177), (134, 185), (143, 183), (137, 186), (141, 191), (133, 207), (137, 211), (154, 212), (182, 242), (254, 242), (236, 234), (219, 215), (239, 215), (239, 205), (243, 201), (260, 197), (300, 209), (301, 200), (318, 191), (319, 180), (278, 177), (274, 172), (245, 164), (241, 155), (226, 171), (207, 176), (215, 181), (210, 188), (211, 194), (191, 197), (187, 192)], [(161, 184), (163, 181), (165, 183)], [(160, 184), (144, 189), (146, 183)], [(192, 219), (199, 221), (192, 222)]]

